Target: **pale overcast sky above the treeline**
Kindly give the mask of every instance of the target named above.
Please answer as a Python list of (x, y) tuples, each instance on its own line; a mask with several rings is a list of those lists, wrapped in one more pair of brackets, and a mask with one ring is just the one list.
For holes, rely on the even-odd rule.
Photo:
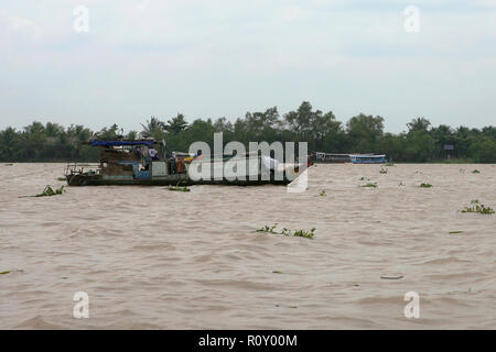
[(496, 0), (0, 2), (0, 129), (129, 131), (303, 100), (344, 122), (380, 114), (390, 132), (416, 117), (481, 128), (496, 124), (495, 85)]

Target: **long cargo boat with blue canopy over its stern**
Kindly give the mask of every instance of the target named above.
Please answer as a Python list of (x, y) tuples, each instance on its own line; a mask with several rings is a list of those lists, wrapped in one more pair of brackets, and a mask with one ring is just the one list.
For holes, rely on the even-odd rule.
[[(166, 157), (165, 143), (152, 140), (93, 141), (87, 144), (101, 147), (99, 164), (87, 170), (84, 165), (67, 164), (65, 177), (68, 186), (288, 185), (308, 166), (282, 164), (260, 153), (206, 158), (202, 155), (173, 152), (172, 156)], [(257, 167), (245, 167), (248, 170), (244, 177), (225, 177), (220, 173), (222, 176), (216, 178), (193, 179), (188, 175), (193, 162), (200, 163), (201, 168), (209, 167), (211, 175), (216, 175), (216, 170), (220, 168), (224, 170), (225, 163), (246, 163), (245, 165)], [(197, 164), (195, 166), (198, 167)], [(288, 177), (288, 172), (292, 177)]]

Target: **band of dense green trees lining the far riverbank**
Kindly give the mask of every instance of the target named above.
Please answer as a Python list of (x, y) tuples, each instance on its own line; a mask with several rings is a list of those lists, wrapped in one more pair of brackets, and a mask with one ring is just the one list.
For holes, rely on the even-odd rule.
[(0, 131), (1, 162), (44, 162), (98, 160), (99, 151), (82, 144), (90, 138), (126, 139), (154, 138), (165, 140), (170, 151), (188, 151), (191, 143), (205, 141), (213, 145), (214, 132), (223, 132), (224, 143), (229, 141), (309, 142), (309, 151), (327, 153), (386, 154), (395, 162), (445, 161), (444, 145), (454, 145), (451, 156), (477, 163), (496, 163), (496, 128), (482, 130), (441, 124), (431, 127), (424, 118), (407, 123), (408, 132), (385, 133), (381, 117), (358, 114), (346, 124), (337, 121), (332, 111), (314, 110), (304, 101), (296, 110), (282, 117), (276, 107), (263, 112), (247, 112), (234, 122), (226, 118), (215, 121), (196, 119), (188, 124), (184, 116), (164, 122), (155, 117), (141, 124), (142, 131), (123, 135), (117, 124), (98, 132), (83, 125), (63, 128), (56, 123), (33, 122), (22, 131), (7, 128)]

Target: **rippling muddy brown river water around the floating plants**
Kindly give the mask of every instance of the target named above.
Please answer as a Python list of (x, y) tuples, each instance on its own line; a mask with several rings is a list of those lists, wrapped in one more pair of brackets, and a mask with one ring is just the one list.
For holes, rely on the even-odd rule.
[[(128, 186), (18, 198), (62, 185), (64, 166), (0, 165), (1, 329), (496, 328), (496, 215), (459, 211), (472, 199), (496, 208), (495, 165), (321, 164), (302, 194)], [(316, 235), (256, 232), (273, 223)], [(87, 319), (73, 317), (77, 292)], [(418, 319), (405, 317), (408, 292)]]

